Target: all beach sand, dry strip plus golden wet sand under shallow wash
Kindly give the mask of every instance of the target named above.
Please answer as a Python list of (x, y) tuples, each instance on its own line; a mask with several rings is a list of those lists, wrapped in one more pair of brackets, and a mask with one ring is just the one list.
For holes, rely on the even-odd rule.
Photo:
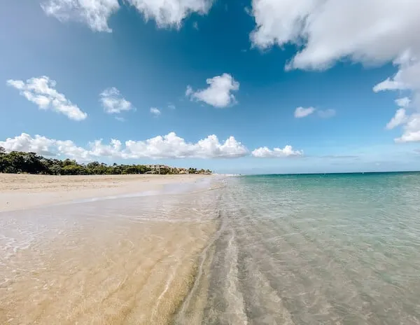
[(211, 182), (53, 204), (205, 178), (0, 174), (0, 324), (172, 324), (218, 228)]

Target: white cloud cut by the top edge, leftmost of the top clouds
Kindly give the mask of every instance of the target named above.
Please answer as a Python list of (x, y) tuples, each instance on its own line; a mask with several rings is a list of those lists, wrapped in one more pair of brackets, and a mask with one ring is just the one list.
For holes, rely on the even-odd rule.
[(49, 0), (41, 4), (47, 15), (60, 21), (76, 20), (95, 32), (112, 32), (109, 17), (118, 11), (118, 0)]

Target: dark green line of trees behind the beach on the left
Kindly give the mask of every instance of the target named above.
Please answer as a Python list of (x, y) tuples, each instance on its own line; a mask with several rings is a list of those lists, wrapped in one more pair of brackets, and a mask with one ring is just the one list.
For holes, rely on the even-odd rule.
[(97, 174), (145, 174), (156, 172), (159, 174), (211, 174), (210, 170), (196, 168), (161, 167), (152, 170), (146, 165), (106, 165), (94, 161), (79, 164), (76, 160), (59, 160), (44, 158), (36, 153), (6, 150), (0, 146), (0, 173), (28, 173), (50, 175), (97, 175)]

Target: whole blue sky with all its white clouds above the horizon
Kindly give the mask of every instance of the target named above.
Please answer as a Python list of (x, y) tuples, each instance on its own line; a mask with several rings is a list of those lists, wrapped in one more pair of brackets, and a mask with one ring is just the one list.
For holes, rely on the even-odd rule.
[(420, 0), (2, 7), (6, 151), (241, 174), (420, 169)]

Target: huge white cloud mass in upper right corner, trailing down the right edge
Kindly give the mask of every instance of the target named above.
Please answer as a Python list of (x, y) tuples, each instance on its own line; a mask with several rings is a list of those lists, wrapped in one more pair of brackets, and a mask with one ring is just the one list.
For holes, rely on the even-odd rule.
[[(340, 60), (379, 65), (393, 62), (398, 71), (374, 86), (374, 92), (408, 92), (411, 106), (400, 108), (387, 127), (400, 125), (395, 141), (419, 141), (420, 20), (418, 0), (253, 0), (253, 46), (295, 44), (300, 48), (286, 69), (322, 70)], [(357, 22), (357, 23), (355, 23)]]

